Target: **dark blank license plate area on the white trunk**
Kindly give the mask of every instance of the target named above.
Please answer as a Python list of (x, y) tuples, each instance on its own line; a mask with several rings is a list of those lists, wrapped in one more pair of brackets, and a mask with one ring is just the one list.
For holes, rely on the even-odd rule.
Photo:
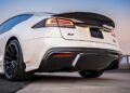
[(90, 28), (91, 37), (104, 39), (103, 34), (100, 28)]

